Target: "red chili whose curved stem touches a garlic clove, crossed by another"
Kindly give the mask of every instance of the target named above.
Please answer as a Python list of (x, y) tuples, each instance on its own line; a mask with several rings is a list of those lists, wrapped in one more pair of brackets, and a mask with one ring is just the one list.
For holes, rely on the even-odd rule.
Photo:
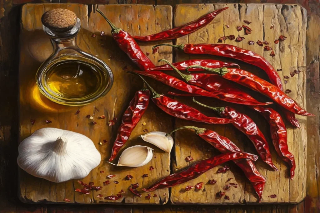
[[(169, 134), (172, 134), (177, 130), (186, 128), (194, 129), (196, 131), (196, 134), (199, 135), (200, 138), (210, 143), (214, 148), (218, 149), (222, 153), (243, 152), (228, 138), (223, 137), (210, 129), (198, 128), (195, 126), (183, 126), (172, 130)], [(266, 183), (266, 179), (259, 173), (252, 160), (241, 159), (234, 160), (234, 162), (243, 170), (245, 176), (249, 179), (254, 190), (258, 194), (259, 202), (261, 202), (262, 192)]]

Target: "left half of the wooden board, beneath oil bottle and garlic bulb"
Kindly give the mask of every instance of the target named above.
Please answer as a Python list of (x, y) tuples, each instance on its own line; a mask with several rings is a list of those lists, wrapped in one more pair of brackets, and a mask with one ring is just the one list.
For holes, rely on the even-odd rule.
[[(35, 74), (37, 67), (50, 55), (52, 48), (49, 38), (42, 30), (41, 16), (45, 11), (53, 8), (66, 8), (74, 11), (81, 19), (82, 29), (77, 37), (77, 43), (81, 49), (92, 55), (96, 55), (104, 60), (114, 73), (114, 84), (110, 92), (100, 100), (82, 107), (62, 106), (47, 100), (41, 95), (35, 85)], [(107, 161), (110, 157), (111, 147), (116, 137), (117, 128), (120, 122), (114, 126), (108, 126), (108, 121), (116, 117), (121, 120), (124, 110), (127, 108), (134, 93), (143, 84), (136, 77), (127, 73), (136, 69), (135, 65), (116, 45), (111, 37), (110, 27), (99, 13), (92, 12), (95, 8), (104, 12), (108, 18), (118, 27), (121, 27), (130, 34), (156, 33), (172, 26), (172, 7), (152, 5), (93, 5), (94, 10), (88, 12), (88, 7), (83, 4), (27, 4), (22, 8), (22, 31), (20, 49), (20, 141), (28, 137), (35, 130), (43, 127), (55, 127), (74, 131), (88, 136), (101, 153), (101, 163), (93, 169), (91, 173), (83, 179), (85, 183), (94, 182), (96, 186), (103, 186), (107, 180), (106, 176), (115, 174), (116, 177), (110, 179), (111, 184), (103, 186), (103, 189), (91, 194), (81, 195), (75, 192), (76, 188), (81, 188), (76, 180), (64, 183), (51, 183), (44, 179), (32, 177), (25, 171), (20, 170), (20, 199), (23, 202), (63, 202), (64, 198), (71, 201), (69, 203), (111, 203), (109, 200), (97, 198), (98, 194), (103, 197), (117, 194), (121, 189), (125, 190), (123, 199), (118, 203), (140, 203), (140, 204), (164, 204), (168, 201), (168, 189), (157, 190), (152, 193), (157, 197), (151, 200), (145, 199), (147, 193), (142, 193), (142, 197), (134, 196), (127, 188), (130, 184), (139, 183), (140, 187), (146, 187), (157, 179), (170, 174), (170, 155), (164, 153), (154, 146), (154, 158), (151, 162), (139, 168), (116, 168)], [(123, 14), (126, 14), (125, 16)], [(159, 23), (158, 25), (156, 23)], [(100, 31), (105, 31), (107, 36), (100, 36)], [(92, 34), (96, 37), (92, 37)], [(142, 45), (144, 52), (151, 53), (150, 59), (157, 64), (157, 60), (164, 56), (159, 53), (152, 54), (152, 44)], [(170, 48), (169, 50), (170, 51)], [(164, 57), (171, 60), (171, 54)], [(127, 67), (127, 68), (125, 68)], [(75, 115), (75, 112), (80, 113)], [(93, 116), (93, 120), (86, 118), (86, 115)], [(105, 115), (106, 119), (98, 119), (100, 115)], [(30, 119), (35, 119), (31, 125)], [(52, 124), (45, 124), (44, 120), (52, 120)], [(91, 122), (97, 122), (92, 125)], [(169, 121), (169, 123), (167, 122)], [(142, 123), (147, 125), (143, 126)], [(148, 145), (141, 139), (143, 130), (148, 131), (169, 131), (172, 126), (171, 118), (164, 112), (151, 104), (148, 110), (137, 124), (131, 134), (130, 139), (125, 144), (125, 148), (132, 145)], [(103, 143), (107, 140), (107, 143)], [(102, 142), (102, 145), (99, 143)], [(115, 160), (115, 162), (117, 159)], [(149, 171), (153, 166), (155, 170)], [(100, 173), (104, 171), (104, 173)], [(126, 175), (132, 175), (132, 180), (124, 180)], [(148, 178), (142, 178), (143, 174), (148, 174)], [(117, 180), (119, 184), (113, 183)], [(139, 188), (140, 189), (140, 188)]]

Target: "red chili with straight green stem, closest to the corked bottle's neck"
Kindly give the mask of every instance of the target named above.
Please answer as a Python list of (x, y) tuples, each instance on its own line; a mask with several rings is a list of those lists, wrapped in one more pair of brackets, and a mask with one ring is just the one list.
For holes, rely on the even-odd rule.
[(124, 51), (129, 58), (139, 66), (143, 71), (147, 71), (148, 68), (154, 67), (155, 65), (150, 61), (150, 59), (142, 52), (137, 42), (132, 38), (132, 36), (126, 31), (116, 27), (109, 19), (97, 8), (104, 19), (109, 23), (111, 27), (111, 34), (114, 40), (118, 43), (118, 46), (122, 51)]

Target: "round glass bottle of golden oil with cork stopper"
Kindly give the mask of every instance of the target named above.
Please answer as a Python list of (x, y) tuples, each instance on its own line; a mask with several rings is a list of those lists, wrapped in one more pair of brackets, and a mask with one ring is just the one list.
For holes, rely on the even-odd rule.
[(76, 14), (54, 9), (45, 12), (41, 21), (53, 53), (36, 73), (40, 92), (55, 103), (69, 106), (89, 104), (106, 95), (113, 84), (112, 71), (101, 59), (77, 46), (81, 24)]

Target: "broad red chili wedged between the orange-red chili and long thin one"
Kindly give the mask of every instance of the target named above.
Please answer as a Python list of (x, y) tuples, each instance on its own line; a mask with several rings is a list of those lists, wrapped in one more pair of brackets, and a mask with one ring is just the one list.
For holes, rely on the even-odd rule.
[[(211, 68), (212, 69), (212, 68)], [(203, 88), (209, 92), (223, 92), (229, 96), (236, 96), (239, 100), (242, 100), (243, 104), (248, 105), (268, 105), (272, 102), (261, 103), (254, 99), (251, 95), (244, 92), (239, 87), (234, 86), (230, 81), (224, 80), (218, 75), (207, 74), (207, 73), (196, 73), (196, 74), (183, 74), (179, 70), (175, 70), (179, 75), (186, 80), (189, 84)], [(217, 69), (219, 72), (220, 69)]]

